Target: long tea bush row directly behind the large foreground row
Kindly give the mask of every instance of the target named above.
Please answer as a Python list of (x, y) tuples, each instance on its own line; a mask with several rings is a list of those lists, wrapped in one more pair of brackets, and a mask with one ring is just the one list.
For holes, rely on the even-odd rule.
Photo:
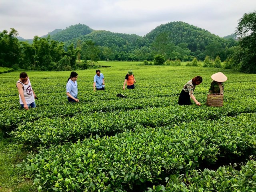
[[(23, 122), (12, 132), (15, 138), (22, 143), (38, 146), (38, 144), (60, 144), (63, 142), (72, 142), (78, 139), (84, 139), (90, 135), (115, 135), (124, 130), (133, 130), (136, 126), (166, 126), (173, 124), (182, 124), (199, 120), (218, 120), (226, 116), (235, 116), (243, 112), (244, 108), (233, 106), (227, 109), (209, 108), (201, 106), (198, 108), (185, 106), (168, 106), (165, 108), (144, 108), (140, 110), (116, 110), (113, 112), (84, 112), (83, 106), (70, 105), (70, 113), (74, 112), (73, 106), (81, 110), (78, 114), (66, 114), (59, 111), (59, 116), (52, 113), (41, 113), (42, 117), (38, 120), (29, 120)], [(256, 112), (255, 106), (246, 107), (250, 112)], [(83, 112), (82, 112), (83, 111)], [(29, 114), (29, 113), (28, 113)], [(32, 111), (30, 114), (34, 114)], [(39, 114), (38, 114), (39, 116)], [(44, 117), (46, 116), (46, 117)], [(49, 118), (53, 116), (54, 118)], [(32, 116), (33, 118), (33, 116)], [(22, 117), (13, 118), (24, 120)], [(7, 123), (6, 121), (5, 123)]]

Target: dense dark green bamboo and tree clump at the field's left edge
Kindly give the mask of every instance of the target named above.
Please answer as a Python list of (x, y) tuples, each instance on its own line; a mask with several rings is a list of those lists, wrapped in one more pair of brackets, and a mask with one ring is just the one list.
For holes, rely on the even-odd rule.
[(50, 38), (35, 36), (33, 44), (20, 42), (17, 30), (0, 33), (0, 66), (27, 70), (71, 70), (76, 64), (78, 49)]

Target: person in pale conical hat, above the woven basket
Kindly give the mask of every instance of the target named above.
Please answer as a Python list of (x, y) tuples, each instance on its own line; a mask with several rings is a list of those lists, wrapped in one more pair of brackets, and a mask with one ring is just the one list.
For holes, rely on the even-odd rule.
[(210, 94), (223, 94), (224, 83), (228, 78), (222, 72), (218, 72), (212, 75), (212, 83), (209, 89)]

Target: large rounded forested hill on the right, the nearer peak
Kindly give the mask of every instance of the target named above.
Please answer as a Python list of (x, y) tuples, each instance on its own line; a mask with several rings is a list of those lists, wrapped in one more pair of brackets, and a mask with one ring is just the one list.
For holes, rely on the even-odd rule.
[(224, 48), (236, 44), (234, 40), (225, 40), (207, 30), (181, 21), (162, 24), (146, 34), (144, 38), (149, 43), (159, 41), (159, 39), (172, 42), (175, 45), (185, 43), (191, 52), (205, 50), (205, 46), (212, 42), (219, 42)]

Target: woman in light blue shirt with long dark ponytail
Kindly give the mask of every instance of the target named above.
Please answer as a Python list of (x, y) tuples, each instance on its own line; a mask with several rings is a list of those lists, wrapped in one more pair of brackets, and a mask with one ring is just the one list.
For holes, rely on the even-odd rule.
[(68, 102), (79, 102), (77, 98), (77, 93), (78, 93), (77, 82), (76, 82), (77, 77), (78, 77), (78, 74), (72, 71), (70, 74), (70, 77), (68, 78), (68, 82), (66, 85)]

